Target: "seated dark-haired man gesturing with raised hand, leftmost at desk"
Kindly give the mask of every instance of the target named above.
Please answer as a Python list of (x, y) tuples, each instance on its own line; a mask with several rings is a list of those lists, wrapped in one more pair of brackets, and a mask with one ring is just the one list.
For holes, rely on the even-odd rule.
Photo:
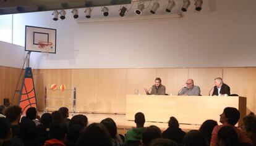
[[(151, 92), (149, 92), (151, 89)], [(147, 93), (147, 95), (165, 95), (165, 86), (163, 86), (161, 84), (161, 79), (160, 78), (156, 78), (155, 79), (155, 84), (150, 88), (149, 90), (148, 89), (145, 89), (145, 92)]]

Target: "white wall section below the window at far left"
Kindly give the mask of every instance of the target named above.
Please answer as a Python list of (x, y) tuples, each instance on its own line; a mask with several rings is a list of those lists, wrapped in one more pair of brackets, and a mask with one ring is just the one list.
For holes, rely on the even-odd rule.
[(0, 41), (0, 66), (22, 68), (24, 47)]

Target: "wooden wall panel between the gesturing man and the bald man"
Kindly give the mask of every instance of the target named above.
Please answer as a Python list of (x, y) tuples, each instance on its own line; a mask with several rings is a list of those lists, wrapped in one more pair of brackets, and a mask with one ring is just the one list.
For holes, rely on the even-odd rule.
[(158, 68), (156, 75), (162, 80), (162, 84), (166, 87), (166, 94), (177, 95), (179, 90), (186, 86), (188, 78), (187, 68)]

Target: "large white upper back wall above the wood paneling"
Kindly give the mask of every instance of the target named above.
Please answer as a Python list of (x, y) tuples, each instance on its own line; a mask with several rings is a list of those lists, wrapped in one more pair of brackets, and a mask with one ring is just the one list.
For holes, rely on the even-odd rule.
[(78, 24), (70, 10), (58, 22), (51, 12), (15, 14), (14, 43), (24, 45), (25, 25), (57, 29), (57, 54), (33, 53), (33, 68), (255, 67), (254, 6), (208, 0), (181, 19), (98, 24)]

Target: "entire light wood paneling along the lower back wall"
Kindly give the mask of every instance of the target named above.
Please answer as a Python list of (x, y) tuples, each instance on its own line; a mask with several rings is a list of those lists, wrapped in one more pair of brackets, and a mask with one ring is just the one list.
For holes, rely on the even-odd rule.
[[(12, 99), (20, 75), (19, 68), (0, 67), (0, 103)], [(77, 112), (125, 113), (126, 94), (150, 88), (156, 77), (162, 79), (166, 93), (176, 95), (192, 78), (200, 86), (201, 94), (208, 95), (213, 79), (223, 77), (231, 93), (247, 97), (247, 113), (256, 112), (256, 68), (134, 68), (134, 69), (61, 69), (33, 70), (39, 110), (43, 110), (45, 87), (65, 84), (67, 89), (77, 87)], [(53, 94), (54, 93), (54, 94)], [(72, 97), (72, 92), (53, 92), (51, 97)], [(15, 97), (14, 103), (17, 103)], [(69, 103), (56, 100), (53, 106)]]

